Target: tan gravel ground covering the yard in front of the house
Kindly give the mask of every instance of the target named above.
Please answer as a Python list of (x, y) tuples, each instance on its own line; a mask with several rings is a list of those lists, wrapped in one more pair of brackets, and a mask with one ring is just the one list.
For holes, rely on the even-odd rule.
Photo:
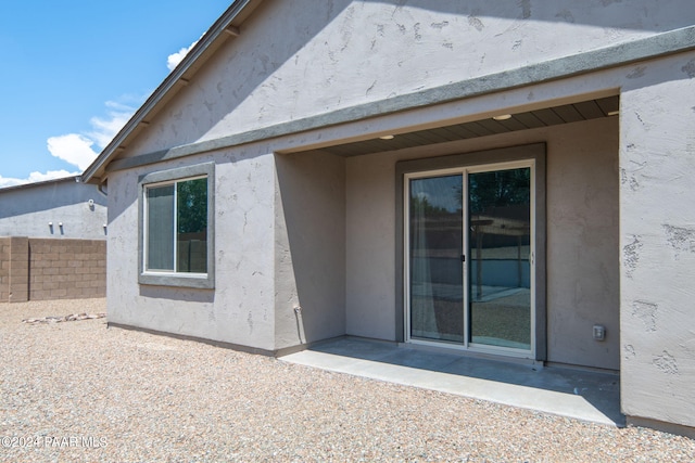
[(103, 299), (0, 304), (0, 460), (695, 461), (695, 440), (618, 429), (106, 329)]

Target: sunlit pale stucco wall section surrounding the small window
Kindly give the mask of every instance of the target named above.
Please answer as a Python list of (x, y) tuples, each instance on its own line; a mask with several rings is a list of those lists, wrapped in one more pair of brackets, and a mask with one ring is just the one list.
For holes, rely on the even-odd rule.
[(118, 188), (109, 196), (109, 321), (273, 350), (273, 155), (219, 153), (187, 159), (211, 160), (217, 164), (218, 205), (214, 291), (137, 284), (138, 177), (146, 171), (110, 179)]

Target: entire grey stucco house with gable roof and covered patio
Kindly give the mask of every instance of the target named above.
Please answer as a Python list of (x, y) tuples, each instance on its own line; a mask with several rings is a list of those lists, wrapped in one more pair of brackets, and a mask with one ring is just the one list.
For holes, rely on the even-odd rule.
[(614, 371), (629, 422), (691, 429), (693, 24), (687, 0), (232, 2), (84, 173), (110, 324)]

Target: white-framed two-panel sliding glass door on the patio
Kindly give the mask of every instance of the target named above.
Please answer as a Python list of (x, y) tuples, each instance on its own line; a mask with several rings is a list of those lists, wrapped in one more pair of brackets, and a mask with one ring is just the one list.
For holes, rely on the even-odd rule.
[(532, 162), (406, 176), (409, 340), (531, 352), (532, 176)]

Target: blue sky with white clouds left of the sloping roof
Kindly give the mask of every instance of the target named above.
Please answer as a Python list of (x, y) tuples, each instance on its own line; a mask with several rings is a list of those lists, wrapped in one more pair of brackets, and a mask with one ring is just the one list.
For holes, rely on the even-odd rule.
[(230, 3), (0, 2), (0, 188), (81, 172)]

